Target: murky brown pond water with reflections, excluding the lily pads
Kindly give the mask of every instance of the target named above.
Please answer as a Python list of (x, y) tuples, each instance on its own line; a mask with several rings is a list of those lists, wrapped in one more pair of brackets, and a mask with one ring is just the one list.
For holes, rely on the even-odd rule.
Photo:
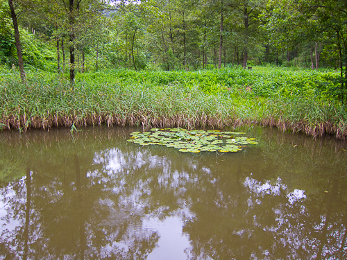
[(347, 259), (347, 144), (245, 128), (239, 153), (129, 128), (0, 133), (0, 259)]

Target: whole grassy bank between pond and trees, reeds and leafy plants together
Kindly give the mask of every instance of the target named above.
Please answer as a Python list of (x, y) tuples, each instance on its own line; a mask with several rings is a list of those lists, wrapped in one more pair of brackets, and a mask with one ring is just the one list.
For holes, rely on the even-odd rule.
[(307, 135), (347, 136), (334, 73), (255, 68), (221, 71), (101, 71), (66, 77), (2, 71), (1, 129), (91, 124), (222, 128), (259, 123)]

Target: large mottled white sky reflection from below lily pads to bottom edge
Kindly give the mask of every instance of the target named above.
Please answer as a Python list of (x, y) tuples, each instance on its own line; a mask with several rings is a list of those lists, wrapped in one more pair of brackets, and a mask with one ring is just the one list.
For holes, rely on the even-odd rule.
[[(189, 174), (185, 171), (171, 171), (171, 162), (158, 155), (150, 155), (137, 152), (133, 156), (125, 155), (121, 150), (112, 148), (94, 155), (94, 164), (103, 165), (103, 171), (106, 173), (102, 177), (102, 182), (108, 182), (110, 185), (114, 183), (114, 187), (108, 187), (110, 191), (118, 194), (117, 202), (112, 200), (100, 200), (103, 205), (108, 205), (112, 208), (118, 205), (119, 209), (124, 213), (132, 216), (141, 216), (142, 231), (137, 230), (137, 225), (129, 226), (129, 234), (133, 232), (141, 234), (152, 234), (155, 232), (159, 236), (158, 244), (147, 259), (187, 259), (187, 255), (192, 252), (189, 236), (183, 234), (185, 223), (192, 221), (195, 218), (189, 208), (192, 206), (192, 201), (181, 198), (186, 191), (185, 184), (190, 180)], [(145, 168), (144, 168), (145, 167)], [(140, 168), (151, 171), (155, 168), (160, 168), (160, 173), (156, 180), (147, 178), (137, 180), (133, 190), (124, 189), (125, 179), (130, 170), (131, 173)], [(209, 168), (203, 168), (203, 171), (210, 173)], [(87, 173), (87, 177), (100, 176), (98, 171)], [(101, 176), (100, 176), (101, 177)], [(105, 180), (104, 180), (105, 179)], [(107, 179), (107, 180), (106, 180)], [(167, 206), (160, 206), (149, 214), (145, 213), (145, 208), (151, 206), (151, 198), (147, 197), (151, 194), (149, 183), (155, 181), (161, 187), (174, 189), (176, 204), (178, 209), (171, 211)], [(134, 229), (133, 231), (130, 229)], [(135, 231), (137, 230), (137, 231)], [(133, 237), (136, 237), (135, 235)], [(127, 252), (131, 247), (132, 238), (128, 237), (124, 241), (117, 241), (103, 248), (105, 252), (110, 253), (112, 248), (119, 248)]]

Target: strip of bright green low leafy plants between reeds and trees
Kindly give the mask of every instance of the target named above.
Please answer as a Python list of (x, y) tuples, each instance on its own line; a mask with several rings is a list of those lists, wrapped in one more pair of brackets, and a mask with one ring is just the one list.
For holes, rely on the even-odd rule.
[(180, 84), (185, 88), (198, 87), (205, 94), (220, 93), (239, 96), (273, 96), (314, 98), (315, 100), (337, 100), (339, 75), (334, 72), (291, 71), (290, 69), (273, 69), (254, 67), (252, 70), (239, 67), (221, 70), (199, 71), (129, 71), (108, 70), (100, 73), (85, 73), (77, 80), (94, 84), (130, 83), (148, 85)]

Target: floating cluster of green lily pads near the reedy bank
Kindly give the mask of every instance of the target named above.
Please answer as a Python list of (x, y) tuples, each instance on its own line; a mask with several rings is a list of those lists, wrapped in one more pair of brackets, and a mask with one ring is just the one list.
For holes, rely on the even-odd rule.
[(174, 147), (183, 153), (237, 152), (247, 144), (258, 144), (255, 138), (235, 137), (244, 132), (221, 132), (219, 130), (186, 130), (183, 128), (152, 128), (149, 132), (132, 132), (127, 141), (149, 146), (158, 144)]

